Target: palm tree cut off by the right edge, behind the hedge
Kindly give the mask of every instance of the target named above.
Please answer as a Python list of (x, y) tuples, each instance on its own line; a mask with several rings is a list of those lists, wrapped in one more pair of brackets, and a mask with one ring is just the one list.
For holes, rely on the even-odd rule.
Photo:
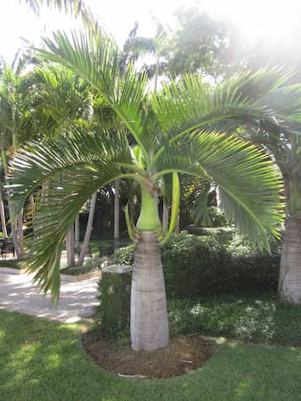
[[(301, 86), (282, 87), (268, 95), (271, 107), (279, 110), (285, 125), (270, 127), (259, 121), (248, 138), (270, 153), (284, 182), (285, 233), (281, 252), (279, 295), (290, 304), (301, 304)], [(266, 102), (266, 99), (265, 99)]]

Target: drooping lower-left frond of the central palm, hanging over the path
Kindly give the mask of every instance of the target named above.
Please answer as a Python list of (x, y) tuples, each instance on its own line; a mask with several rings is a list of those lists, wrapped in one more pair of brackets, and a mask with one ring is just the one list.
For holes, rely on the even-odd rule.
[(28, 271), (57, 300), (61, 246), (77, 213), (104, 184), (122, 176), (119, 163), (132, 163), (126, 135), (81, 131), (60, 142), (31, 143), (12, 161), (8, 192), (18, 213), (28, 196), (47, 185), (37, 204), (35, 230), (28, 236)]

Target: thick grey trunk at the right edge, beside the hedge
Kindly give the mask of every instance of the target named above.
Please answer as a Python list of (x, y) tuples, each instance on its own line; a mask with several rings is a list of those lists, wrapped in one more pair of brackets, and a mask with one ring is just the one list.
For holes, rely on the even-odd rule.
[(281, 252), (280, 299), (301, 304), (301, 217), (287, 217)]

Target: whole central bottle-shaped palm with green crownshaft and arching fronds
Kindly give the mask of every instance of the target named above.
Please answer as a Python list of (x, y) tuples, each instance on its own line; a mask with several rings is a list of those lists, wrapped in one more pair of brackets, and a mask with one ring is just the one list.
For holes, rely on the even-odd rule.
[[(35, 250), (28, 271), (53, 299), (60, 293), (62, 242), (79, 209), (100, 187), (117, 179), (134, 180), (142, 193), (131, 295), (131, 339), (134, 349), (157, 349), (168, 342), (167, 302), (160, 259), (164, 241), (158, 211), (158, 188), (172, 176), (173, 200), (168, 233), (175, 228), (179, 205), (178, 173), (214, 181), (227, 217), (251, 240), (269, 248), (268, 233), (277, 235), (282, 220), (280, 175), (262, 151), (232, 135), (237, 125), (280, 123), (259, 100), (283, 83), (279, 71), (244, 73), (216, 87), (198, 76), (170, 80), (152, 94), (147, 79), (129, 64), (118, 68), (118, 49), (110, 37), (73, 32), (45, 40), (41, 53), (84, 78), (120, 121), (119, 129), (74, 129), (67, 140), (29, 143), (12, 163), (10, 192), (17, 209), (45, 181), (51, 191), (37, 208), (39, 227), (28, 238)], [(244, 94), (244, 88), (249, 89)], [(43, 224), (39, 224), (43, 223)]]

